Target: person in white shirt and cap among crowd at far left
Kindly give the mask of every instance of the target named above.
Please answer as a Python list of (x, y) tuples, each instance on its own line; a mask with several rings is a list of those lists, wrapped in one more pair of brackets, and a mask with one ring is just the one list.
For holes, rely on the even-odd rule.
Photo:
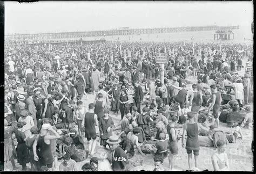
[[(21, 111), (21, 117), (18, 119), (19, 122), (25, 122), (26, 125), (23, 127), (23, 132), (25, 133), (26, 137), (31, 135), (30, 129), (35, 126), (32, 117), (29, 115), (27, 110)], [(37, 125), (36, 125), (37, 126)]]

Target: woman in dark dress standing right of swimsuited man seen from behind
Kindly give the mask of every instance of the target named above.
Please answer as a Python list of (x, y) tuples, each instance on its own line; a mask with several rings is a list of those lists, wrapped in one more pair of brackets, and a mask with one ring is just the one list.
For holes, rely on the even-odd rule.
[(114, 127), (114, 121), (109, 116), (109, 110), (104, 110), (104, 116), (99, 120), (99, 132), (100, 132), (100, 146), (106, 149), (106, 140), (112, 135), (112, 127)]

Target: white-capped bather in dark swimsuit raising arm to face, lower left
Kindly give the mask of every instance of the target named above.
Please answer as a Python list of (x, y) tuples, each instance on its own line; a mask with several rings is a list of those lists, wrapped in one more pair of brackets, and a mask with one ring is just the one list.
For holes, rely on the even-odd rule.
[[(54, 135), (50, 135), (50, 131)], [(51, 150), (51, 140), (59, 139), (60, 135), (52, 128), (50, 124), (43, 124), (41, 127), (40, 134), (37, 135), (36, 140), (33, 142), (33, 154), (35, 161), (46, 165), (49, 171), (52, 171), (53, 165), (53, 154)], [(37, 146), (40, 151), (37, 151)]]

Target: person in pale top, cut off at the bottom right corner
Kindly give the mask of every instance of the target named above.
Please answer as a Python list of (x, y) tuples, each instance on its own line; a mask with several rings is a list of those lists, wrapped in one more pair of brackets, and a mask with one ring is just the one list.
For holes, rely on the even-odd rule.
[(230, 164), (228, 163), (227, 154), (225, 151), (225, 142), (217, 141), (217, 153), (212, 155), (212, 165), (214, 171), (228, 171), (230, 169)]

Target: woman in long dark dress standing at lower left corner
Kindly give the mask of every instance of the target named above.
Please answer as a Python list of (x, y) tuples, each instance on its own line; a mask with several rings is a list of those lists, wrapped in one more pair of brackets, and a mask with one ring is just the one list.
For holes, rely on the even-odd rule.
[(15, 132), (17, 139), (17, 162), (22, 165), (22, 170), (26, 170), (26, 163), (29, 163), (29, 149), (26, 147), (26, 135), (22, 132), (24, 122), (18, 122), (18, 130)]

